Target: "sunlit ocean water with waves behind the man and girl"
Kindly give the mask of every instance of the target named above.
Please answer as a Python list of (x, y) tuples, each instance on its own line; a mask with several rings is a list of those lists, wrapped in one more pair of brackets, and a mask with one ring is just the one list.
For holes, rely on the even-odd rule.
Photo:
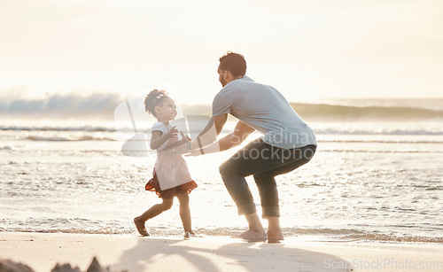
[[(285, 237), (443, 243), (443, 100), (293, 106), (314, 129), (318, 148), (307, 165), (276, 178)], [(63, 108), (35, 118), (0, 106), (0, 233), (138, 236), (133, 218), (160, 202), (144, 190), (155, 153), (121, 152), (125, 139), (136, 134), (131, 126), (122, 134), (113, 119), (85, 118), (87, 111), (81, 118), (60, 118), (57, 111)], [(222, 134), (234, 124), (229, 121)], [(218, 173), (236, 150), (186, 158), (198, 183), (190, 211), (200, 235), (230, 237), (245, 230)], [(253, 178), (247, 182), (260, 214)], [(182, 235), (178, 201), (146, 226), (152, 236)]]

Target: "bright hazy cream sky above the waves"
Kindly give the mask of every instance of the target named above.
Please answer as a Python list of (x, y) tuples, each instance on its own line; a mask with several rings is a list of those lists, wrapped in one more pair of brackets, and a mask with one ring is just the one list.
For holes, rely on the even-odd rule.
[(443, 97), (443, 1), (0, 0), (0, 91), (175, 84), (211, 103), (226, 51), (290, 101)]

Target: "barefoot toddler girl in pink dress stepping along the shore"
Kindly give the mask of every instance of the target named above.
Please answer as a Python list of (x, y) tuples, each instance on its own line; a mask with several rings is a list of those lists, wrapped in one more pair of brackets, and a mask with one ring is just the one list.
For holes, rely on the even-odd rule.
[[(197, 188), (197, 183), (191, 179), (188, 166), (182, 155), (165, 151), (176, 145), (184, 144), (190, 139), (182, 133), (183, 139), (178, 141), (178, 130), (169, 125), (169, 121), (175, 119), (177, 112), (174, 100), (167, 96), (166, 91), (153, 89), (144, 98), (144, 109), (158, 120), (151, 129), (151, 149), (157, 150), (157, 160), (154, 165), (153, 177), (146, 183), (145, 190), (155, 191), (163, 202), (152, 206), (144, 214), (134, 218), (134, 223), (142, 236), (149, 236), (144, 222), (170, 209), (174, 197), (177, 197), (180, 202), (180, 218), (183, 222), (184, 237), (190, 237), (190, 235), (194, 235), (194, 232), (190, 226), (188, 194)], [(170, 184), (180, 185), (170, 188)]]

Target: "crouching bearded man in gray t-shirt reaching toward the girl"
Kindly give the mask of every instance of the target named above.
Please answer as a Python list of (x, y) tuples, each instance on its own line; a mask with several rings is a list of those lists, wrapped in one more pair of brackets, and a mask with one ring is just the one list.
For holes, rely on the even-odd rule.
[[(238, 214), (244, 214), (249, 225), (240, 237), (251, 241), (268, 238), (268, 242), (276, 243), (284, 237), (280, 229), (275, 176), (291, 172), (314, 156), (315, 135), (276, 89), (245, 76), (246, 62), (242, 55), (228, 52), (219, 60), (217, 73), (223, 88), (214, 97), (211, 121), (196, 140), (176, 152), (188, 150), (194, 156), (221, 152), (243, 143), (255, 129), (262, 133), (263, 136), (225, 161), (220, 173), (237, 204)], [(215, 142), (228, 114), (237, 117), (237, 126), (233, 133)], [(245, 181), (248, 175), (253, 175), (257, 183), (268, 232), (261, 225)]]

